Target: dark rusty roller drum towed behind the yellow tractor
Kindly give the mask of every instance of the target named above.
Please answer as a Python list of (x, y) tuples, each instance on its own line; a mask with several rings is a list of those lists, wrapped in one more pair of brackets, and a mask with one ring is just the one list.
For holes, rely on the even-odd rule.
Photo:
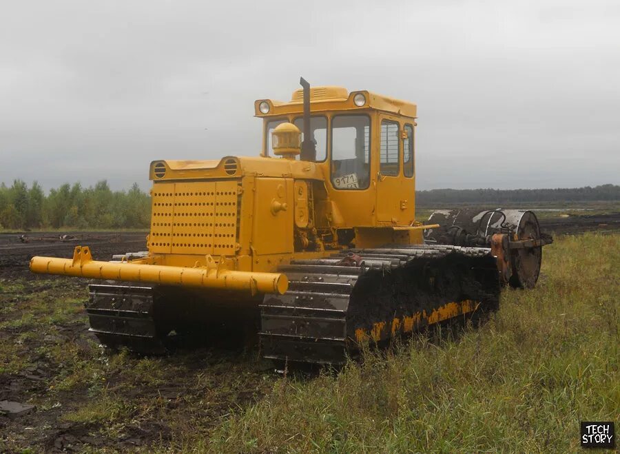
[[(428, 243), (490, 247), (494, 234), (509, 234), (511, 241), (541, 238), (538, 219), (529, 210), (442, 209), (431, 214), (428, 223), (440, 225), (426, 230)], [(541, 258), (541, 247), (510, 248), (510, 286), (534, 287), (540, 274)]]

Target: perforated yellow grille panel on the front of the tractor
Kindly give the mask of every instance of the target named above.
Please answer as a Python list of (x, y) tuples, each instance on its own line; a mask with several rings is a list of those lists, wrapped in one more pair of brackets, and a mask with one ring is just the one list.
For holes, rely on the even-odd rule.
[(234, 255), (237, 192), (236, 180), (154, 185), (149, 251)]

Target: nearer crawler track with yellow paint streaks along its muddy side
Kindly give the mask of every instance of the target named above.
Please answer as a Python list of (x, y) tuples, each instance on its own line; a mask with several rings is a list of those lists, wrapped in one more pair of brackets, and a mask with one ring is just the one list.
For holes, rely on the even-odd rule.
[(345, 265), (351, 260), (341, 253), (280, 267), (289, 291), (267, 295), (260, 305), (265, 357), (343, 364), (365, 340), (382, 342), (499, 304), (490, 249), (420, 245), (351, 252), (363, 260), (360, 266)]

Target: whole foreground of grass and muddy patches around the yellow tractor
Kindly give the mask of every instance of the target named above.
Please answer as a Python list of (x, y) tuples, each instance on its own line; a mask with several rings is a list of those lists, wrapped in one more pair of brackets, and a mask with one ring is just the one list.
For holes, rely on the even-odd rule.
[(561, 236), (482, 326), (310, 377), (242, 348), (108, 354), (81, 283), (0, 280), (0, 400), (37, 405), (0, 417), (0, 451), (579, 451), (580, 420), (620, 422), (619, 269), (620, 234)]

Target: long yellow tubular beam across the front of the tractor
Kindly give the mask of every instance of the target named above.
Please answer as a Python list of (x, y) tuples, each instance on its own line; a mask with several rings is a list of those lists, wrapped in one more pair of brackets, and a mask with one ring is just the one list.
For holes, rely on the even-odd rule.
[(33, 257), (30, 271), (80, 278), (151, 282), (177, 287), (202, 287), (283, 294), (289, 287), (287, 276), (280, 273), (254, 273), (218, 269), (217, 267), (189, 268), (142, 265), (127, 262), (92, 260), (88, 247), (75, 248), (73, 258)]

